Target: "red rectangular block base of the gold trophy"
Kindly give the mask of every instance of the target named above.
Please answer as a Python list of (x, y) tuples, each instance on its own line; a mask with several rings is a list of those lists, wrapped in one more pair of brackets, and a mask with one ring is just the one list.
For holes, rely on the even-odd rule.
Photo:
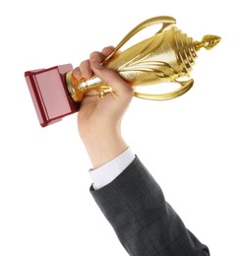
[(80, 103), (70, 96), (66, 86), (66, 74), (73, 70), (71, 64), (25, 72), (34, 108), (42, 127), (60, 121), (75, 113)]

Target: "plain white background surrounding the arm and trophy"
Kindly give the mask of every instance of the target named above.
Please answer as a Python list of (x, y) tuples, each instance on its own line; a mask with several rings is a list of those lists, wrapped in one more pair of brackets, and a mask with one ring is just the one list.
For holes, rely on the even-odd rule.
[(89, 192), (91, 162), (76, 114), (39, 126), (27, 70), (72, 63), (115, 45), (140, 22), (176, 18), (195, 39), (218, 34), (168, 101), (134, 98), (124, 136), (166, 200), (212, 255), (244, 242), (244, 13), (242, 1), (2, 1), (0, 6), (0, 255), (127, 255)]

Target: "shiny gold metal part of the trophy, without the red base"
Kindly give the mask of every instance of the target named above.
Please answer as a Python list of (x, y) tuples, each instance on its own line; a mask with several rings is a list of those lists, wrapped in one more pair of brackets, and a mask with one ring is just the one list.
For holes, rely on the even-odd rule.
[[(190, 72), (197, 58), (197, 51), (202, 47), (212, 49), (220, 41), (216, 35), (205, 35), (202, 41), (194, 41), (186, 33), (178, 30), (174, 25), (176, 21), (172, 17), (153, 17), (140, 25), (119, 42), (114, 51), (103, 61), (102, 65), (115, 70), (131, 86), (151, 86), (161, 83), (174, 83), (179, 85), (177, 90), (164, 94), (135, 93), (135, 96), (164, 100), (181, 96), (188, 92), (194, 80), (178, 81), (182, 77), (190, 77)], [(161, 29), (130, 48), (118, 54), (118, 50), (136, 33), (161, 24)], [(115, 54), (117, 52), (117, 54)], [(83, 96), (89, 90), (100, 88), (103, 91), (110, 88), (93, 76), (90, 79), (76, 80), (72, 71), (66, 76), (67, 87), (75, 101), (82, 101)]]

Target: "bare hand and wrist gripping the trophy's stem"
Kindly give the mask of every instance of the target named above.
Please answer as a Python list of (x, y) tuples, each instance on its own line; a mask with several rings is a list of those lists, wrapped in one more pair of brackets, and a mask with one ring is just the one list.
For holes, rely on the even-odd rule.
[(112, 50), (113, 47), (105, 47), (102, 52), (92, 52), (90, 59), (83, 61), (73, 72), (77, 79), (95, 75), (112, 89), (112, 93), (103, 98), (99, 97), (99, 90), (87, 93), (78, 113), (79, 133), (93, 168), (127, 149), (121, 136), (121, 121), (134, 90), (116, 72), (100, 65)]

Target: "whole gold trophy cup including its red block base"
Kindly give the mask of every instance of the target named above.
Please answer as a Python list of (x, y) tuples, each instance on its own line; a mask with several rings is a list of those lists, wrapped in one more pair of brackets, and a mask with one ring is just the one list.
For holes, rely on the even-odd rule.
[[(157, 24), (162, 25), (161, 29), (152, 37), (120, 51), (136, 33)], [(194, 80), (184, 81), (183, 78), (190, 77), (197, 51), (202, 47), (208, 50), (214, 48), (220, 37), (208, 34), (201, 41), (196, 41), (178, 30), (175, 24), (175, 19), (168, 16), (153, 17), (144, 21), (125, 35), (101, 65), (115, 70), (130, 86), (162, 83), (178, 85), (178, 89), (164, 94), (135, 92), (137, 97), (165, 100), (185, 94), (192, 88)], [(111, 92), (112, 89), (96, 76), (77, 80), (72, 74), (72, 69), (71, 64), (67, 64), (25, 73), (42, 126), (78, 111), (78, 103), (90, 90), (99, 89), (100, 97)]]

